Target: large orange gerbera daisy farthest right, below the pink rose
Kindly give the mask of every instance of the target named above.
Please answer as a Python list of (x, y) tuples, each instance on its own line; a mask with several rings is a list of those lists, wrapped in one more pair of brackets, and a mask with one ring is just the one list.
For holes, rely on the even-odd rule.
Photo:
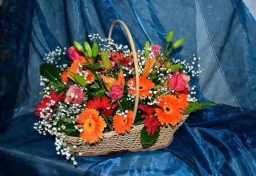
[(160, 108), (155, 109), (155, 115), (158, 116), (158, 119), (161, 125), (171, 124), (175, 126), (180, 122), (182, 118), (183, 109), (180, 106), (179, 99), (174, 95), (161, 95), (158, 97)]

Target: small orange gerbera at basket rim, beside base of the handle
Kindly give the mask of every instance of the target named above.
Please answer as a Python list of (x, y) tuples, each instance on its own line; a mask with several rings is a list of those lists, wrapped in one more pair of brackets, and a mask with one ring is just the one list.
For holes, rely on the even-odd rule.
[(133, 126), (133, 111), (129, 111), (126, 115), (116, 114), (113, 117), (113, 127), (118, 134), (130, 132)]

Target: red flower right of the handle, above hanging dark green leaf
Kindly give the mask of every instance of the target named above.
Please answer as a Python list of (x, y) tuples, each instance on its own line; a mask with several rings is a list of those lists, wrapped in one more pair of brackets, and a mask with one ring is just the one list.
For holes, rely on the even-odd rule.
[(158, 131), (158, 126), (161, 125), (158, 118), (155, 117), (155, 108), (147, 105), (139, 105), (138, 108), (146, 113), (144, 127), (147, 127), (147, 135), (154, 135)]

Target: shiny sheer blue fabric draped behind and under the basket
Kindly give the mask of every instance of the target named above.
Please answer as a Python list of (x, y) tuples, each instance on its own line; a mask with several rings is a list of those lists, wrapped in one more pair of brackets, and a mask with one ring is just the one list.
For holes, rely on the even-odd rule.
[[(184, 37), (175, 57), (201, 57), (194, 80), (213, 108), (191, 114), (172, 144), (147, 152), (76, 157), (34, 129), (44, 54), (123, 20), (137, 48)], [(242, 1), (3, 1), (0, 7), (0, 175), (256, 175), (256, 22)], [(121, 27), (113, 38), (128, 44)]]

